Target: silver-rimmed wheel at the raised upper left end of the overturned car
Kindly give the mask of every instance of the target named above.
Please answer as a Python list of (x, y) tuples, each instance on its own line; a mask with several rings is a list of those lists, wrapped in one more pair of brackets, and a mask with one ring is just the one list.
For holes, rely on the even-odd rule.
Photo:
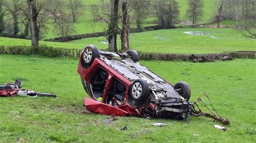
[(94, 59), (98, 56), (98, 49), (96, 46), (94, 45), (87, 45), (84, 48), (84, 52), (83, 52), (83, 62), (84, 65), (89, 67), (92, 65), (92, 62), (94, 61)]

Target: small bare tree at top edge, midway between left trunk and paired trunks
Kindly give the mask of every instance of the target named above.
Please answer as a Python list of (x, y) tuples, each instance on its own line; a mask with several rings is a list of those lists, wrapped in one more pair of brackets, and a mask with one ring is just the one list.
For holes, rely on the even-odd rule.
[(84, 4), (80, 0), (69, 0), (69, 10), (71, 12), (71, 16), (73, 22), (77, 22), (78, 17), (82, 15), (82, 8), (84, 8)]

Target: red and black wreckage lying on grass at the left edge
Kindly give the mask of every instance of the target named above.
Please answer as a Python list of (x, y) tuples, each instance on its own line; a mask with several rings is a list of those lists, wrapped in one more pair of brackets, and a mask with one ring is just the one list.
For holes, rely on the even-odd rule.
[(21, 89), (21, 79), (16, 79), (15, 83), (4, 83), (0, 85), (0, 97), (29, 96), (29, 97), (56, 97), (55, 94), (38, 93), (33, 90)]

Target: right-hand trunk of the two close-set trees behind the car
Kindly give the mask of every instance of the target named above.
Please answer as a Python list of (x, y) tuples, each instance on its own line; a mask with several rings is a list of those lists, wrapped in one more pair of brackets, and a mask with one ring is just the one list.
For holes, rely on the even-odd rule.
[(127, 2), (123, 2), (122, 5), (123, 12), (123, 28), (121, 33), (121, 44), (122, 51), (127, 51), (129, 49), (129, 35), (130, 35), (130, 16), (128, 15)]

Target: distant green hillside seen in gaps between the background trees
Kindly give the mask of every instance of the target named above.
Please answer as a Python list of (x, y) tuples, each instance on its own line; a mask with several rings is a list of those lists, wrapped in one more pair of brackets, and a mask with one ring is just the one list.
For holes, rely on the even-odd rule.
[[(98, 22), (96, 25), (92, 23), (92, 13), (91, 13), (91, 5), (98, 4), (100, 0), (83, 0), (85, 5), (83, 9), (83, 15), (78, 19), (78, 22), (75, 23), (76, 33), (75, 34), (84, 34), (84, 33), (93, 33), (93, 32), (102, 32), (106, 28), (106, 24), (104, 22)], [(186, 10), (188, 8), (187, 0), (178, 0), (179, 3), (179, 11), (180, 16), (179, 19), (181, 21), (188, 21), (186, 17)], [(200, 24), (210, 23), (211, 17), (213, 13), (214, 4), (217, 3), (215, 0), (204, 0), (204, 13), (203, 17), (200, 19)], [(157, 18), (154, 18), (152, 15), (149, 15), (147, 19), (145, 19), (143, 26), (151, 26), (157, 23)], [(53, 32), (53, 23), (49, 23), (49, 30), (47, 34), (44, 34), (44, 38), (53, 38), (58, 37), (55, 32)], [(135, 24), (131, 24), (132, 28), (135, 28)]]

